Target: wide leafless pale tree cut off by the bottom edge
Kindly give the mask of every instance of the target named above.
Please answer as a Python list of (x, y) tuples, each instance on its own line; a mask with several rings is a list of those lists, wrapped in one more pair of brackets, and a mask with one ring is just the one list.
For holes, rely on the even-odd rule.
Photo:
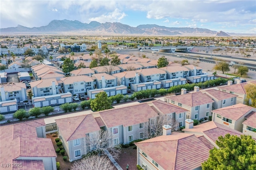
[(115, 167), (107, 156), (92, 155), (77, 160), (71, 170), (114, 170)]

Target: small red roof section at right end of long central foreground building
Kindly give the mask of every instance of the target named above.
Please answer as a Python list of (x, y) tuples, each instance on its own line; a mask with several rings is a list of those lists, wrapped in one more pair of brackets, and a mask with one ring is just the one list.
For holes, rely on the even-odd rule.
[(162, 100), (157, 100), (152, 102), (154, 107), (156, 107), (159, 111), (161, 111), (163, 114), (170, 114), (170, 113), (184, 113), (188, 110), (182, 109), (181, 107), (178, 107), (176, 105), (172, 105), (170, 103), (166, 103)]

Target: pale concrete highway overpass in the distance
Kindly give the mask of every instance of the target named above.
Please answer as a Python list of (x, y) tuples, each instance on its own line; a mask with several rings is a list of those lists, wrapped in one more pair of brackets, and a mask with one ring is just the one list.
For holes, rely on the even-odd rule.
[(189, 52), (194, 47), (186, 47), (186, 46), (168, 46), (168, 47), (151, 47), (153, 51), (157, 52)]

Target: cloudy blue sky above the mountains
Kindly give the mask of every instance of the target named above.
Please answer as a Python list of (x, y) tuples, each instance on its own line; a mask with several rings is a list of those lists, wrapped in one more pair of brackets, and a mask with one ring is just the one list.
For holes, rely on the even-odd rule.
[(120, 22), (132, 27), (206, 28), (256, 34), (255, 0), (1, 0), (0, 28), (40, 27), (52, 20)]

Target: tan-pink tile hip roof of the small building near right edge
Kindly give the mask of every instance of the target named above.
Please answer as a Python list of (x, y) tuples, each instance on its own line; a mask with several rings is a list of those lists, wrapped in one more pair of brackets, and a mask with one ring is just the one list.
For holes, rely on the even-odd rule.
[(252, 110), (252, 108), (253, 107), (244, 105), (242, 103), (238, 103), (236, 105), (213, 110), (212, 112), (217, 113), (218, 115), (221, 115), (222, 117), (226, 117), (228, 119), (237, 121), (241, 117), (244, 117), (244, 115), (246, 113), (248, 113), (250, 110)]

